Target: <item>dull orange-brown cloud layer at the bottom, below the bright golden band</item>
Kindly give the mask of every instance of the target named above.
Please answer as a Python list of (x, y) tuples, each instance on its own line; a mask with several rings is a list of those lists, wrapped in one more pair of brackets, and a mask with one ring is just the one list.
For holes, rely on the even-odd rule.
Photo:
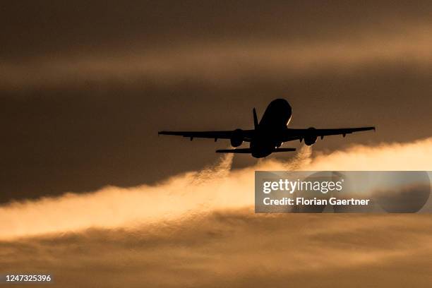
[(3, 241), (0, 270), (50, 272), (59, 287), (427, 287), (430, 224), (428, 215), (224, 210), (135, 229)]

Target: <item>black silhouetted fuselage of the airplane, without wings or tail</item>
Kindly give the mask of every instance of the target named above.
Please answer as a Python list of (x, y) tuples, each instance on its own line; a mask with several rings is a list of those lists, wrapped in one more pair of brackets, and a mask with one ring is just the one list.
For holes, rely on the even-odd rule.
[(266, 157), (282, 145), (280, 136), (287, 130), (291, 115), (292, 108), (287, 100), (276, 99), (268, 104), (251, 140), (253, 157)]

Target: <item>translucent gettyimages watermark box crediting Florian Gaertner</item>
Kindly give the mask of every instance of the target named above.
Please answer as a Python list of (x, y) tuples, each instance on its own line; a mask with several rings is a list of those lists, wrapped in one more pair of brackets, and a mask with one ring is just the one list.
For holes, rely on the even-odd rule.
[(432, 212), (431, 172), (255, 173), (255, 212)]

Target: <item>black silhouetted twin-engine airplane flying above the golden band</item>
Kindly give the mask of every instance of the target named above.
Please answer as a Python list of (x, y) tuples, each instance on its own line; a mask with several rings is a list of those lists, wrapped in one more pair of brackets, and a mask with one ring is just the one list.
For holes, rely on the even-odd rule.
[(249, 142), (249, 148), (222, 149), (216, 150), (219, 153), (246, 153), (251, 154), (256, 158), (267, 157), (273, 152), (289, 152), (295, 151), (296, 148), (280, 148), (287, 141), (304, 140), (308, 146), (316, 143), (318, 137), (321, 139), (324, 136), (342, 135), (346, 136), (349, 133), (358, 131), (375, 131), (375, 127), (359, 127), (359, 128), (333, 128), (333, 129), (318, 129), (318, 128), (288, 128), (289, 121), (292, 116), (292, 108), (284, 99), (276, 99), (268, 104), (267, 109), (263, 114), (263, 118), (258, 122), (256, 109), (253, 108), (253, 124), (254, 129), (243, 130), (235, 129), (232, 131), (159, 131), (158, 135), (174, 135), (183, 136), (186, 138), (212, 138), (229, 139), (232, 147), (239, 147), (243, 142)]

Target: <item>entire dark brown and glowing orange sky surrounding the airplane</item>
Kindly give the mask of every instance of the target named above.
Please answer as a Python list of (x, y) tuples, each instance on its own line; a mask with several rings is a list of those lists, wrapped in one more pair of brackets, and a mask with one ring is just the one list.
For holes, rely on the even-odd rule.
[[(299, 157), (308, 160), (296, 166), (303, 169), (431, 170), (431, 15), (430, 1), (4, 4), (0, 215), (8, 229), (0, 270), (31, 270), (25, 251), (36, 251), (37, 270), (52, 269), (63, 286), (76, 277), (102, 283), (114, 271), (129, 286), (220, 287), (221, 276), (223, 286), (282, 286), (315, 275), (335, 287), (335, 275), (364, 279), (380, 267), (388, 287), (400, 284), (401, 271), (424, 287), (432, 281), (427, 215), (259, 216), (247, 189), (231, 195), (248, 187), (256, 167)], [(157, 136), (252, 128), (253, 107), (262, 116), (281, 97), (292, 105), (292, 127), (377, 130), (328, 137), (309, 150), (285, 143), (301, 152), (264, 162), (236, 155), (229, 164), (214, 152), (229, 141)], [(215, 174), (221, 161), (228, 166)], [(216, 176), (197, 199), (182, 198), (196, 174)], [(244, 183), (221, 188), (232, 174)], [(165, 206), (148, 194), (169, 199), (160, 187), (174, 189), (169, 195), (189, 210), (158, 217)], [(335, 229), (323, 231), (327, 224)], [(240, 247), (241, 239), (253, 241)], [(82, 267), (97, 271), (95, 282)], [(203, 282), (191, 279), (197, 272)]]

